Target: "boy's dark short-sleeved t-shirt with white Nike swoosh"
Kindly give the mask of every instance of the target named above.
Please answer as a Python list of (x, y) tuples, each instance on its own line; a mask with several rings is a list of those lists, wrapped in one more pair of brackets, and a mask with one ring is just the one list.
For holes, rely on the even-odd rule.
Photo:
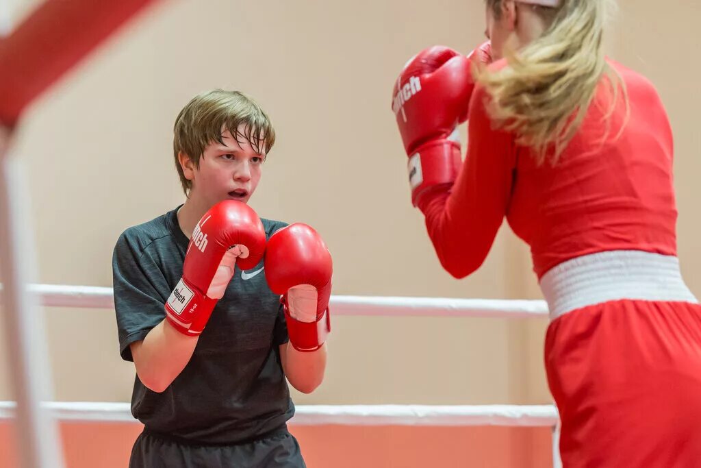
[[(266, 237), (284, 222), (261, 220)], [(114, 305), (121, 356), (165, 318), (163, 305), (182, 276), (189, 239), (177, 208), (130, 227), (114, 248)], [(238, 267), (200, 335), (192, 358), (162, 393), (137, 376), (132, 414), (147, 429), (203, 443), (256, 439), (294, 414), (279, 347), (287, 342), (280, 297), (266, 283), (263, 262)]]

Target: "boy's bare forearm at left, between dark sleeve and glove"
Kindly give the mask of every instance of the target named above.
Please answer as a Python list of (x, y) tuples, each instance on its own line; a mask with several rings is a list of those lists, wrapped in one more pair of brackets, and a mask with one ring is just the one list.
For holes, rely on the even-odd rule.
[(154, 392), (163, 392), (190, 361), (198, 340), (161, 321), (143, 341), (132, 344), (139, 379)]

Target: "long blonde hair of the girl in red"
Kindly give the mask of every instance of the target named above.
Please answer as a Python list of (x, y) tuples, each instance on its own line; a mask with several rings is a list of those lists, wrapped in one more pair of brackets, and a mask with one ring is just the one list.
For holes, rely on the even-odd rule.
[[(497, 18), (501, 2), (486, 0)], [(514, 132), (519, 145), (531, 147), (538, 164), (557, 161), (578, 131), (602, 76), (613, 93), (607, 117), (618, 104), (619, 93), (627, 106), (625, 83), (606, 62), (602, 41), (613, 6), (613, 0), (562, 0), (554, 8), (529, 6), (549, 25), (543, 36), (519, 51), (505, 51), (508, 66), (479, 75), (491, 98), (492, 121)]]

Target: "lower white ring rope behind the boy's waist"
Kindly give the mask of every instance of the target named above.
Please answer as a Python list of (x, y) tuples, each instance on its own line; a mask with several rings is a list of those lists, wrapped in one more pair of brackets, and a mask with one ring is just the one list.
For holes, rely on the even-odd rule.
[[(46, 401), (56, 420), (133, 422), (130, 403)], [(14, 416), (15, 402), (0, 401), (0, 420)], [(318, 426), (553, 427), (552, 405), (299, 405), (290, 424)]]

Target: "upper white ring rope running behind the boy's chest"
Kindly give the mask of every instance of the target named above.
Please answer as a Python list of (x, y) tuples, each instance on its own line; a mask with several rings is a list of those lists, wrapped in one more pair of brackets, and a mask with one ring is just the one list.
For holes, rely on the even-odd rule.
[[(31, 284), (46, 307), (114, 309), (112, 288)], [(0, 288), (1, 291), (1, 288)], [(445, 297), (383, 297), (333, 295), (329, 307), (334, 316), (452, 316), (546, 317), (543, 300), (450, 299)]]

